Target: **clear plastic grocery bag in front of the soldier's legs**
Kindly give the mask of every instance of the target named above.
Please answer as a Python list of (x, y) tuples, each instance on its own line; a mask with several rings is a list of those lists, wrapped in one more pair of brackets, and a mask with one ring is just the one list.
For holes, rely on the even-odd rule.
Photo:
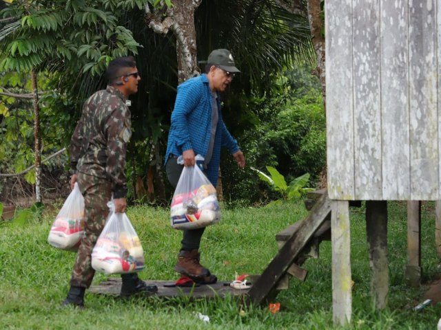
[(141, 241), (125, 213), (111, 212), (92, 250), (92, 268), (107, 275), (144, 269)]

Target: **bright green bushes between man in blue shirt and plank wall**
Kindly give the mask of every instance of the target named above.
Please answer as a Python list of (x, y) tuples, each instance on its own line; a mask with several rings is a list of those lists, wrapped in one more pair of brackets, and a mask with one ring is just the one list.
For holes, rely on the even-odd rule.
[[(247, 168), (271, 166), (288, 182), (309, 173), (314, 187), (326, 162), (326, 120), (320, 82), (311, 75), (311, 67), (296, 65), (274, 75), (271, 90), (265, 96), (249, 98), (246, 105), (257, 123), (246, 131), (234, 131), (234, 135)], [(280, 198), (276, 190), (268, 191), (268, 186), (259, 184), (247, 168), (239, 170), (229, 155), (223, 156), (220, 167), (229, 175), (223, 175), (224, 196), (229, 203)]]

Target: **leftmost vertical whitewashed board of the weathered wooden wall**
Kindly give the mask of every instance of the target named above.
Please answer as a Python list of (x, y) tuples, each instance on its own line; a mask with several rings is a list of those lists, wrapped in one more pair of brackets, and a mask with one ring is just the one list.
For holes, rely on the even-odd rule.
[(325, 38), (327, 178), (331, 199), (355, 196), (351, 2), (332, 0), (325, 4), (325, 30), (332, 31)]

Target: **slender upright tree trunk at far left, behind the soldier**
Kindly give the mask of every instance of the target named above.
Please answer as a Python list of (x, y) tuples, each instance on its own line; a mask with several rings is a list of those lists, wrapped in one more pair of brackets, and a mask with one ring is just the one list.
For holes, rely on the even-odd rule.
[(35, 140), (35, 201), (41, 203), (41, 140), (40, 140), (40, 108), (37, 90), (37, 74), (31, 70), (32, 96), (34, 103), (34, 140)]

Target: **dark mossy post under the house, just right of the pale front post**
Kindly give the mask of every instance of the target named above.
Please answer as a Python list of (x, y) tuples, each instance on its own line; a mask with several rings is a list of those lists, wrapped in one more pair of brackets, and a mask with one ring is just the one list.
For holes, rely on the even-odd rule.
[(387, 201), (366, 201), (366, 228), (371, 294), (378, 309), (387, 306), (389, 267), (387, 262)]

